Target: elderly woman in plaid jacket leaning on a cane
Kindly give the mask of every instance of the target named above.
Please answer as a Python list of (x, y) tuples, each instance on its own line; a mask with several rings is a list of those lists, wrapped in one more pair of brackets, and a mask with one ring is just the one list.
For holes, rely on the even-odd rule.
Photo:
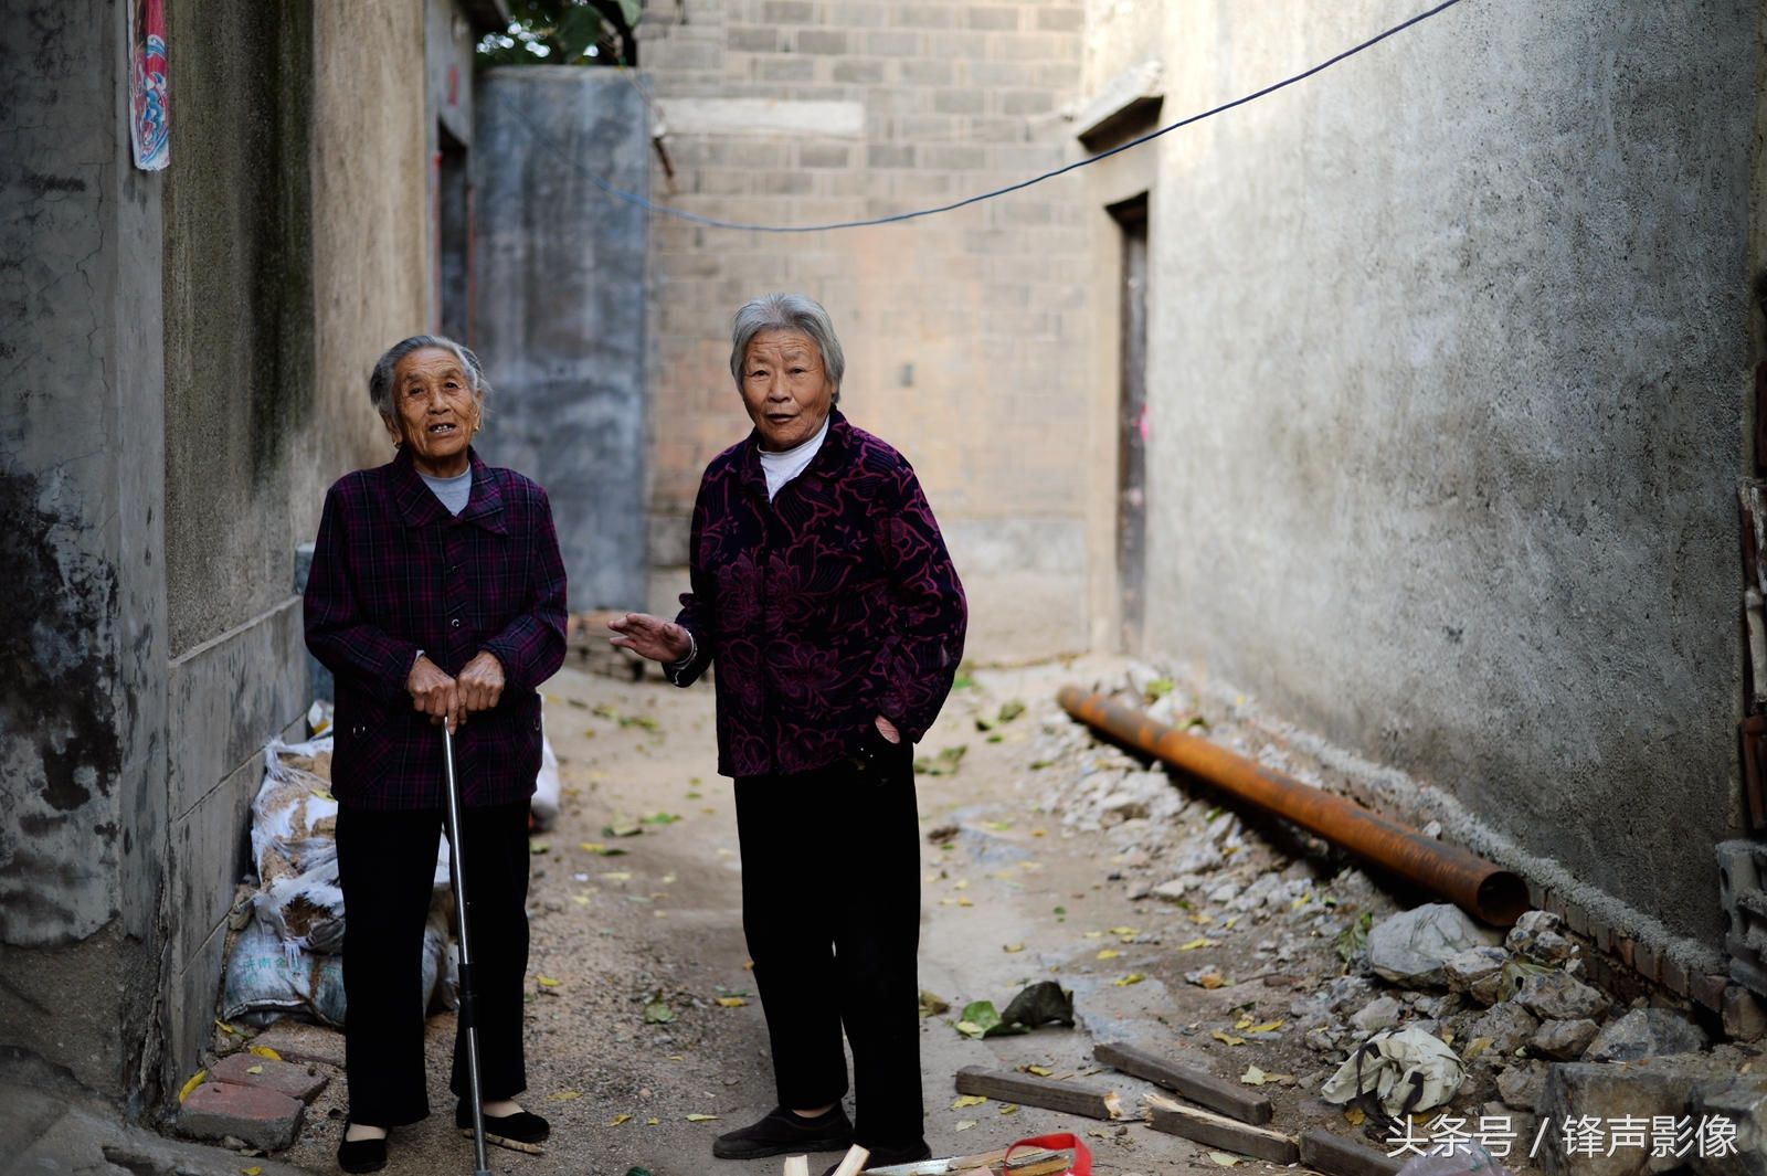
[[(539, 1151), (514, 1097), (528, 961), (528, 798), (537, 687), (564, 660), (565, 584), (546, 493), (484, 464), (484, 373), (436, 335), (396, 344), (368, 381), (398, 449), (325, 496), (307, 577), (307, 648), (337, 678), (332, 793), (345, 895), (345, 1074), (337, 1165), (385, 1167), (387, 1130), (429, 1114), (419, 978), (444, 812), (444, 736), (459, 777), (484, 1139)], [(463, 978), (465, 980), (465, 978)], [(454, 1123), (472, 1134), (468, 1033)]]

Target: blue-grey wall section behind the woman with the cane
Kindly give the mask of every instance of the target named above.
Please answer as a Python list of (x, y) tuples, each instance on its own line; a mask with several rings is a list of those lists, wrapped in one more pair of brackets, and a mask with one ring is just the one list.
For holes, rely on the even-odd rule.
[(571, 607), (645, 602), (645, 106), (624, 71), (481, 74), (472, 344), (493, 394), (479, 450), (551, 496)]

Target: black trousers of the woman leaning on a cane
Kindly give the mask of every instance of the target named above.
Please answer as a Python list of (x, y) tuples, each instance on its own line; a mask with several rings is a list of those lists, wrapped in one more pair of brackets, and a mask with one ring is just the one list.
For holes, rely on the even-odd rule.
[[(421, 969), (440, 833), (438, 809), (337, 810), (352, 1123), (398, 1127), (429, 1114)], [(479, 1075), (486, 1102), (497, 1102), (527, 1086), (521, 1010), (528, 969), (528, 803), (463, 809), (461, 839), (479, 998)], [(472, 1091), (465, 1033), (454, 1038), (451, 1088), (463, 1098)]]

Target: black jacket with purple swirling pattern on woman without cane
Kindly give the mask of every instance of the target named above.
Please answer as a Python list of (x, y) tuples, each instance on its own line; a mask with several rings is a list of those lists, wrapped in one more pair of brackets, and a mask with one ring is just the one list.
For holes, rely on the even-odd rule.
[(707, 466), (693, 509), (698, 646), (717, 680), (717, 770), (788, 775), (859, 750), (884, 715), (919, 742), (963, 657), (968, 611), (914, 468), (832, 411), (829, 436), (767, 501), (751, 434)]

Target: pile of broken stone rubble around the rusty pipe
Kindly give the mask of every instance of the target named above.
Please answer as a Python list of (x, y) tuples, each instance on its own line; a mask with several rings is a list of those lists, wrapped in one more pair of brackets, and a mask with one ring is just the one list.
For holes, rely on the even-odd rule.
[[(1322, 772), (1237, 722), (1233, 708), (1205, 715), (1152, 667), (1131, 666), (1096, 689), (1320, 784)], [(1585, 945), (1560, 916), (1528, 911), (1502, 932), (1447, 902), (1399, 909), (1323, 842), (1186, 788), (1053, 708), (1034, 750), (1035, 772), (1021, 788), (1035, 807), (1064, 835), (1108, 846), (1106, 879), (1124, 899), (1177, 908), (1198, 929), (1179, 948), (1194, 954), (1166, 954), (1173, 985), (1292, 989), (1274, 1029), (1269, 996), (1253, 991), (1244, 999), (1263, 1001), (1255, 1015), (1267, 1024), (1248, 1029), (1246, 1014), (1239, 1029), (1200, 1021), (1180, 1033), (1235, 1070), (1253, 1059), (1248, 1074), (1286, 1079), (1299, 1112), (1338, 1118), (1339, 1134), (1345, 1121), (1362, 1125), (1382, 1141), (1405, 1116), (1442, 1114), (1502, 1121), (1528, 1141), (1543, 1121), (1557, 1139), (1564, 1121), (1656, 1114), (1698, 1123), (1723, 1107), (1735, 1151), (1702, 1160), (1700, 1171), (1767, 1176), (1767, 1075), (1753, 1074), (1756, 1051), (1714, 1045), (1689, 1012), (1643, 998), (1615, 1006), (1589, 982)], [(1170, 936), (1145, 941), (1172, 945)], [(1528, 1167), (1521, 1150), (1514, 1165)], [(1661, 1158), (1652, 1167), (1650, 1148), (1597, 1151), (1544, 1148), (1534, 1162), (1555, 1174), (1665, 1171)]]

